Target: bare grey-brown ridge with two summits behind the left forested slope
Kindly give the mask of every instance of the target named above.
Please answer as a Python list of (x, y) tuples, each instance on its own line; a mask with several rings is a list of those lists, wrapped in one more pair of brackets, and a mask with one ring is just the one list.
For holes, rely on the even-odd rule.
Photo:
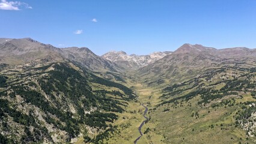
[(118, 71), (121, 67), (95, 55), (86, 47), (59, 49), (43, 44), (31, 38), (0, 38), (0, 63), (23, 64), (34, 59), (46, 59), (49, 62), (75, 61), (93, 71)]

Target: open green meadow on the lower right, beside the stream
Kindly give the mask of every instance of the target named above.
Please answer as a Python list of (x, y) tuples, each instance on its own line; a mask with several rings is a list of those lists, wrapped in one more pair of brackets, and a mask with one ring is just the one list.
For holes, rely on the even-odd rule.
[[(248, 96), (249, 97), (249, 96)], [(198, 97), (187, 103), (151, 110), (151, 123), (156, 123), (157, 134), (165, 143), (255, 143), (242, 128), (235, 127), (234, 115), (239, 107), (199, 107)], [(240, 101), (246, 101), (242, 99)], [(236, 102), (239, 104), (239, 101)], [(169, 109), (167, 112), (163, 112)], [(192, 116), (198, 112), (198, 116)]]

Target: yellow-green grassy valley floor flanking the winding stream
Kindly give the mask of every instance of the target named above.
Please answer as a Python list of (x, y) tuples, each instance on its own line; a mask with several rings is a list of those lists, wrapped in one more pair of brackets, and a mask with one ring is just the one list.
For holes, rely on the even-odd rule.
[[(148, 109), (153, 109), (154, 105), (157, 104), (157, 97), (154, 97), (155, 93), (153, 89), (146, 88), (141, 83), (136, 83), (133, 85), (133, 89), (138, 95), (138, 100), (135, 103), (129, 103), (129, 106), (126, 107), (126, 112), (119, 114), (119, 119), (114, 122), (118, 126), (118, 130), (112, 134), (109, 139), (105, 140), (105, 143), (122, 143), (130, 144), (140, 136), (138, 127), (141, 125), (145, 118), (143, 116), (145, 108), (141, 105), (144, 103)], [(148, 113), (145, 115), (148, 118), (150, 116)], [(155, 133), (154, 128), (156, 124), (147, 122), (141, 128), (142, 133), (145, 133), (147, 128), (150, 128), (150, 131), (143, 134), (143, 136), (138, 140), (137, 144), (143, 143), (163, 143), (163, 137), (160, 134)], [(84, 143), (82, 137), (78, 139), (76, 144)]]

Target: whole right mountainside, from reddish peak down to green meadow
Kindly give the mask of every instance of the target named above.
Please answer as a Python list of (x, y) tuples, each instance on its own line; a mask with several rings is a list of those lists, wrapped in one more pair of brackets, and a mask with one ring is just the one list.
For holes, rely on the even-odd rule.
[(140, 68), (144, 142), (255, 143), (255, 67), (255, 49), (184, 44)]

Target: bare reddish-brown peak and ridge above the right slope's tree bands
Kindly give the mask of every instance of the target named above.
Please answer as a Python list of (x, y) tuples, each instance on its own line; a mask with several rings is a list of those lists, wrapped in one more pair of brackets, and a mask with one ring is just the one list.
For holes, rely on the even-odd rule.
[(255, 58), (256, 49), (215, 49), (200, 44), (183, 44), (171, 55), (140, 68), (137, 76), (151, 85), (164, 83), (166, 80), (177, 82), (190, 79), (210, 68), (234, 65), (234, 62), (240, 61), (249, 67)]

